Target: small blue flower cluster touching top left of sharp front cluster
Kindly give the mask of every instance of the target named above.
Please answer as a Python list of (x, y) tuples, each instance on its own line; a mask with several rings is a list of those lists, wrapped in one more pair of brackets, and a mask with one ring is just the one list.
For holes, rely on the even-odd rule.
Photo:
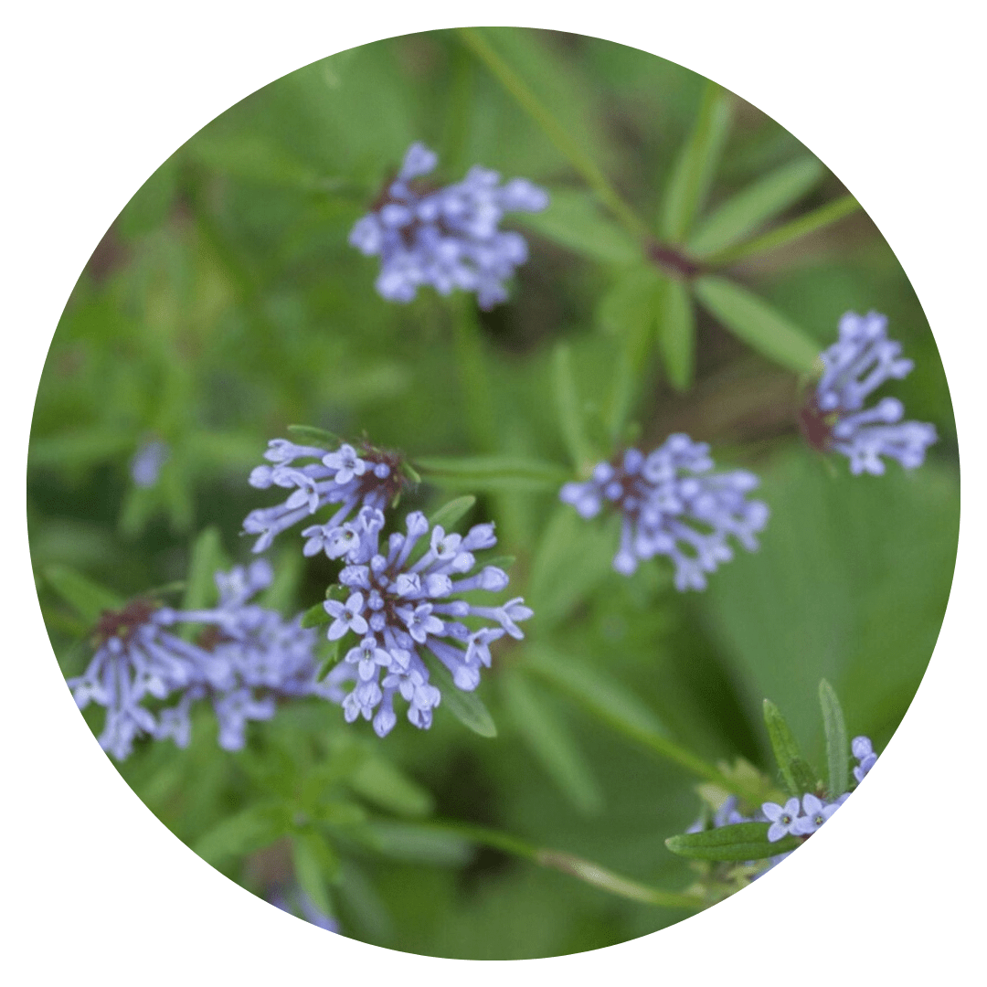
[(259, 490), (280, 487), (292, 493), (283, 503), (252, 510), (244, 519), (244, 531), (260, 535), (255, 552), (264, 552), (280, 532), (332, 503), (339, 504), (339, 509), (326, 524), (302, 531), (308, 539), (304, 552), (312, 556), (324, 550), (331, 559), (339, 559), (353, 537), (346, 518), (357, 506), (383, 510), (405, 483), (401, 457), (369, 445), (357, 452), (343, 443), (329, 451), (275, 438), (267, 443), (264, 458), (271, 465), (251, 473), (251, 486)]

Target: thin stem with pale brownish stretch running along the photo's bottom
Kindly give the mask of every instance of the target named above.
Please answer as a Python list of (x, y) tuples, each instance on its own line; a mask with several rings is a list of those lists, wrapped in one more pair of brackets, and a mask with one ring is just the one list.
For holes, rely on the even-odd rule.
[(704, 905), (703, 899), (698, 895), (651, 887), (649, 884), (642, 884), (630, 877), (609, 871), (592, 861), (576, 857), (574, 854), (536, 847), (516, 836), (501, 833), (495, 829), (463, 822), (446, 821), (429, 824), (427, 828), (455, 833), (472, 843), (493, 847), (494, 850), (531, 861), (539, 867), (568, 873), (578, 880), (592, 884), (594, 887), (621, 898), (641, 901), (647, 905), (657, 905), (661, 908), (686, 908), (692, 911), (699, 911)]

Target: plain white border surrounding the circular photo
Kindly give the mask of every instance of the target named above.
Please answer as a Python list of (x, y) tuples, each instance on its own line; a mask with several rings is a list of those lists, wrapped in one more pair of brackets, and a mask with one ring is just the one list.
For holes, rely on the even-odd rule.
[[(968, 982), (984, 883), (982, 25), (973, 4), (361, 5), (91, 0), (7, 14), (4, 74), (2, 718), (7, 982), (259, 984), (315, 975), (412, 983)], [(267, 82), (376, 38), (484, 21), (643, 47), (788, 127), (852, 190), (908, 272), (936, 334), (963, 457), (949, 612), (905, 721), (859, 795), (785, 867), (687, 922), (612, 949), (504, 968), (374, 949), (282, 915), (211, 871), (148, 812), (82, 719), (44, 636), (24, 528), (43, 359), (115, 214), (216, 114)], [(13, 19), (13, 20), (11, 20)], [(974, 509), (969, 509), (972, 493)], [(979, 632), (979, 633), (978, 633)], [(655, 833), (655, 839), (664, 834)], [(970, 851), (940, 849), (969, 841)], [(931, 849), (917, 845), (928, 842)], [(980, 914), (978, 914), (980, 912)], [(711, 948), (712, 947), (712, 948)], [(976, 951), (975, 951), (976, 950)]]

